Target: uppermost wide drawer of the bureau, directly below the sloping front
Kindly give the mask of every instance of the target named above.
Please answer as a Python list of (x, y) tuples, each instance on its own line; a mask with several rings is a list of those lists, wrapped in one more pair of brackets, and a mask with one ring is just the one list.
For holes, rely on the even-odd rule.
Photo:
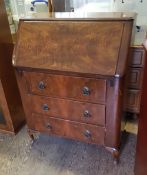
[(24, 72), (32, 94), (104, 103), (106, 80)]

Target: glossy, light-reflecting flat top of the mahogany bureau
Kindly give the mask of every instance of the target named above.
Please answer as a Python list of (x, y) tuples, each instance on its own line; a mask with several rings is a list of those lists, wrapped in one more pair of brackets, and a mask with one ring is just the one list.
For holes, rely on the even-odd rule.
[(55, 12), (34, 13), (21, 20), (131, 20), (135, 16), (132, 12)]

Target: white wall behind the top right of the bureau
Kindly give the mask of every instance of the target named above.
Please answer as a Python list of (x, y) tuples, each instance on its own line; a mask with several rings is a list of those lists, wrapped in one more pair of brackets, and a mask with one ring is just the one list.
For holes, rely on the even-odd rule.
[[(69, 0), (67, 0), (69, 1)], [(70, 6), (74, 7), (75, 11), (87, 12), (136, 12), (137, 25), (147, 25), (147, 0), (70, 0)]]

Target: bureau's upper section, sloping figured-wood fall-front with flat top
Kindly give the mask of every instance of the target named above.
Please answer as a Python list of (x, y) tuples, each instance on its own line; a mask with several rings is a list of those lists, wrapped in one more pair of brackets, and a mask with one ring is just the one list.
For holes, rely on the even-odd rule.
[(124, 73), (133, 13), (125, 17), (124, 13), (58, 14), (20, 21), (14, 66), (100, 75)]

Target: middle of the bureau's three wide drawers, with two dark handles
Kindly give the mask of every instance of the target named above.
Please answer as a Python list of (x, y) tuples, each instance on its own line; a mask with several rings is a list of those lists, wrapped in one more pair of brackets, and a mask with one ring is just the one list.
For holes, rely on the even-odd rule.
[(105, 105), (30, 96), (32, 111), (67, 120), (105, 125)]

